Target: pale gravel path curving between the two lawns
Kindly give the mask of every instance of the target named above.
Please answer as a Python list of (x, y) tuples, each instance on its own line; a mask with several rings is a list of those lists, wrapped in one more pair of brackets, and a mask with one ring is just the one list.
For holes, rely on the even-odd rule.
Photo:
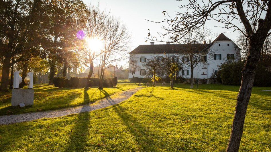
[(19, 115), (4, 115), (0, 116), (0, 125), (10, 124), (10, 123), (18, 123), (23, 121), (31, 121), (35, 119), (42, 119), (42, 118), (54, 118), (54, 117), (62, 117), (70, 114), (77, 114), (81, 112), (92, 111), (96, 109), (105, 108), (111, 105), (115, 105), (120, 103), (129, 97), (131, 97), (135, 92), (142, 88), (134, 88), (129, 89), (126, 91), (118, 92), (114, 95), (106, 97), (105, 99), (99, 100), (96, 104), (88, 104), (78, 107), (70, 107), (61, 110), (54, 110), (54, 111), (43, 111), (43, 112), (33, 112), (33, 113), (25, 113)]

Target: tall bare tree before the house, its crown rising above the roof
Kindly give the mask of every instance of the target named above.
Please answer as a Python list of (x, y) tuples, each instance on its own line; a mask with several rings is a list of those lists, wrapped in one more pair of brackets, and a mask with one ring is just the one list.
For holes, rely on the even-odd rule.
[[(178, 39), (178, 43), (184, 44), (184, 47), (179, 52), (179, 57), (183, 65), (186, 65), (191, 70), (190, 88), (193, 88), (194, 79), (193, 71), (199, 63), (207, 65), (207, 55), (212, 56), (213, 52), (205, 49), (209, 44), (206, 44), (206, 39), (212, 39), (213, 34), (211, 30), (197, 29), (184, 35), (181, 39)], [(201, 43), (203, 42), (204, 43)], [(210, 58), (209, 58), (210, 59)]]

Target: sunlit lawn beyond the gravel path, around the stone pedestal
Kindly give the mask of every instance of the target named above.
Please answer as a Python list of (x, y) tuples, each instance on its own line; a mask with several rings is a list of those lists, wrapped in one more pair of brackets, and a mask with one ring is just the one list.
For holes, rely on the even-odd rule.
[(118, 91), (136, 86), (132, 83), (118, 84), (117, 88), (57, 88), (54, 85), (34, 85), (34, 105), (29, 107), (11, 107), (11, 90), (0, 92), (0, 115), (11, 115), (72, 107), (95, 102)]

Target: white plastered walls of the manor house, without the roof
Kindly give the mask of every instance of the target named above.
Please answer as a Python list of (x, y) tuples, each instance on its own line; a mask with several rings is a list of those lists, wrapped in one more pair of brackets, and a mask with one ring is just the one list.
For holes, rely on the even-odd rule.
[[(220, 44), (220, 46), (219, 46)], [(227, 45), (229, 44), (229, 46)], [(218, 70), (217, 65), (225, 62), (227, 60), (227, 54), (234, 54), (234, 58), (235, 60), (239, 60), (240, 59), (240, 52), (237, 53), (235, 51), (235, 44), (232, 41), (216, 41), (209, 49), (211, 54), (207, 55), (207, 64), (206, 63), (199, 63), (198, 64), (198, 78), (199, 79), (209, 79), (211, 76), (211, 73), (213, 72), (213, 70)], [(174, 53), (173, 53), (174, 54)], [(220, 59), (216, 59), (214, 60), (214, 54), (221, 54), (221, 60)], [(137, 59), (138, 63), (137, 65), (139, 65), (141, 67), (141, 69), (146, 69), (144, 67), (144, 62), (140, 62), (140, 57), (146, 57), (147, 59), (151, 59), (152, 57), (163, 57), (164, 54), (163, 53), (158, 53), (158, 54), (149, 54), (149, 53), (138, 53), (138, 54), (130, 54), (130, 58), (133, 59)], [(177, 54), (176, 54), (177, 56)], [(179, 57), (179, 62), (182, 63), (182, 57)], [(190, 78), (191, 77), (191, 69), (190, 67), (188, 67), (187, 65), (183, 65), (183, 69), (184, 70), (188, 70), (189, 71), (189, 75), (182, 75), (182, 71), (179, 72), (179, 75), (182, 75), (185, 78)], [(129, 65), (131, 68), (131, 65)], [(147, 75), (140, 75), (139, 71), (135, 72), (135, 77), (141, 77), (144, 78)], [(132, 78), (132, 74), (129, 73), (129, 78)], [(193, 70), (193, 77), (197, 78), (197, 68), (195, 67)]]

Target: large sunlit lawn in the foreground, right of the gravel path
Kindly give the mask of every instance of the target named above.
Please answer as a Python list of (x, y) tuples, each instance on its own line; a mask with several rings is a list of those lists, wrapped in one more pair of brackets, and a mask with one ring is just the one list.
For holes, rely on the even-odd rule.
[[(111, 107), (0, 126), (3, 151), (225, 151), (239, 87), (158, 86)], [(254, 87), (240, 151), (271, 151), (271, 90)]]

